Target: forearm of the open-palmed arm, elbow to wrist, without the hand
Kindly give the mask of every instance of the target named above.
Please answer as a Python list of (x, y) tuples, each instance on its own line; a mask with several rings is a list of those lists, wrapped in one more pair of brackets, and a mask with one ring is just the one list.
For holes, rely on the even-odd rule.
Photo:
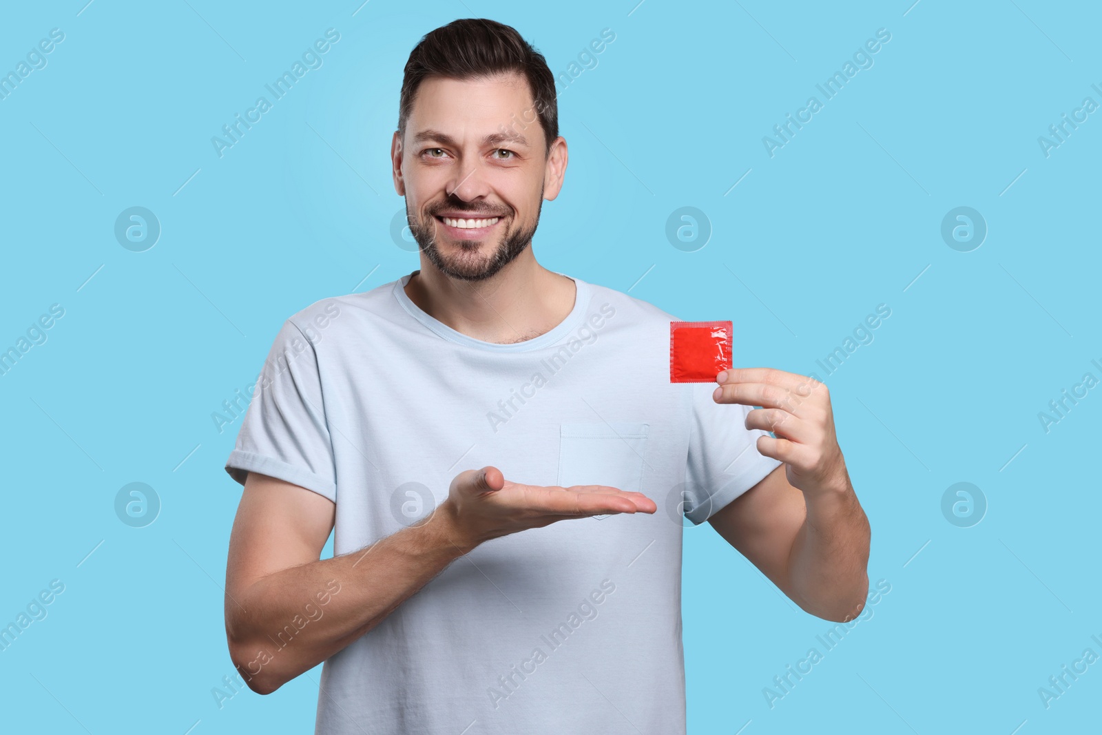
[(227, 588), (230, 657), (250, 689), (272, 692), (371, 630), (474, 545), (445, 502), (369, 548), (269, 574), (233, 597)]

